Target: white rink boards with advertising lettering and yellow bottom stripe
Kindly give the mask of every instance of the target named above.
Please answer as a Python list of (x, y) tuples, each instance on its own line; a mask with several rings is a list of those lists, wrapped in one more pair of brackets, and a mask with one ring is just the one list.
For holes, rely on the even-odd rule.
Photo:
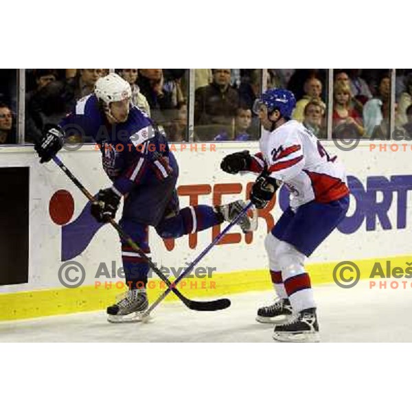
[[(214, 145), (174, 146), (181, 170), (178, 183), (181, 207), (247, 198), (247, 186), (254, 176), (224, 174), (219, 170), (220, 159), (229, 152), (246, 148), (257, 151), (258, 144)], [(356, 196), (351, 196), (349, 217), (341, 230), (335, 230), (308, 261), (312, 283), (333, 282), (334, 266), (343, 260), (356, 262), (363, 278), (369, 276), (375, 262), (385, 266), (390, 260), (392, 266), (409, 266), (412, 262), (411, 150), (371, 151), (368, 142), (352, 152), (339, 151), (332, 143), (323, 146), (345, 163)], [(92, 193), (110, 185), (95, 148), (63, 150), (61, 158)], [(121, 266), (115, 231), (104, 226), (90, 233), (89, 215), (84, 209), (87, 200), (56, 165), (39, 165), (31, 148), (1, 148), (0, 168), (10, 167), (30, 168), (28, 282), (0, 286), (0, 320), (98, 310), (113, 303), (115, 295), (122, 293), (117, 288), (122, 279), (118, 275), (102, 277), (101, 273), (97, 277), (97, 272), (103, 266), (113, 276), (113, 265), (115, 271)], [(213, 268), (214, 275), (187, 279), (189, 284), (182, 289), (185, 295), (207, 298), (271, 288), (263, 242), (271, 223), (282, 213), (284, 203), (282, 192), (273, 209), (260, 218), (258, 231), (253, 236), (244, 236), (233, 229), (226, 242), (216, 246), (201, 263), (206, 270)], [(174, 244), (165, 244), (150, 232), (152, 258), (159, 266), (184, 267), (216, 233), (216, 229), (215, 232), (209, 229), (176, 240)], [(89, 240), (85, 242), (85, 239)], [(70, 289), (60, 283), (59, 268), (67, 261), (76, 261), (84, 267), (86, 276), (82, 286)], [(95, 282), (103, 286), (97, 287)], [(113, 282), (111, 289), (104, 287), (104, 282)], [(149, 295), (153, 298), (160, 293), (161, 285), (156, 279), (151, 282), (154, 288), (149, 290)], [(190, 285), (190, 282), (195, 283)]]

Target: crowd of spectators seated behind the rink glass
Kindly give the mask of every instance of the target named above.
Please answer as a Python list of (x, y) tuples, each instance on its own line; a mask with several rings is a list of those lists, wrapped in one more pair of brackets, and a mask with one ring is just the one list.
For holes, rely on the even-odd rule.
[[(188, 69), (115, 69), (132, 88), (133, 104), (162, 126), (170, 141), (248, 141), (260, 137), (252, 111), (262, 89), (295, 93), (293, 119), (327, 138), (327, 69), (196, 69), (194, 96)], [(109, 69), (27, 69), (25, 141), (41, 137), (79, 98), (93, 92)], [(395, 130), (412, 137), (412, 69), (396, 70)], [(389, 134), (391, 77), (388, 69), (334, 69), (332, 138), (386, 138)], [(17, 71), (0, 70), (0, 144), (16, 143)], [(188, 98), (194, 98), (194, 128), (187, 125)]]

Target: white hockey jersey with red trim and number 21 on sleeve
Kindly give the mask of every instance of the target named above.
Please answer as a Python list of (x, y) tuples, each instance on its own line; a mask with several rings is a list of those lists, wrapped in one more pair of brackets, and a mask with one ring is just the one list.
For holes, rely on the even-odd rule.
[(273, 132), (264, 131), (260, 153), (251, 170), (267, 168), (269, 176), (290, 191), (290, 207), (310, 201), (329, 203), (349, 193), (343, 165), (330, 157), (320, 141), (303, 124), (289, 120)]

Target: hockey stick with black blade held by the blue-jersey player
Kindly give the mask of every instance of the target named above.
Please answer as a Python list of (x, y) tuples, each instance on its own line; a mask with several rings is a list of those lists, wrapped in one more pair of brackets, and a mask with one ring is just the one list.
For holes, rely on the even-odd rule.
[[(84, 196), (86, 196), (89, 199), (89, 201), (95, 201), (93, 195), (86, 189), (86, 187), (82, 185), (82, 183), (80, 183), (80, 181), (78, 181), (76, 176), (74, 176), (70, 172), (70, 170), (56, 155), (53, 156), (52, 159), (54, 160), (54, 163), (56, 163), (56, 165), (58, 165), (58, 167), (63, 172), (65, 172), (66, 176), (82, 191)], [(133, 239), (130, 238), (130, 236), (128, 236), (128, 234), (117, 224), (117, 222), (113, 218), (109, 220), (109, 223), (117, 230), (119, 236), (123, 238), (134, 251), (139, 253), (141, 258), (143, 258), (144, 261), (150, 266), (152, 271), (154, 271), (160, 277), (160, 279), (168, 285), (168, 290), (173, 290), (174, 294), (177, 297), (179, 297), (181, 301), (183, 301), (183, 304), (185, 304), (187, 308), (190, 308), (192, 310), (212, 311), (226, 309), (230, 306), (229, 299), (217, 299), (214, 301), (194, 301), (182, 295), (182, 293), (179, 290), (174, 288), (174, 284), (172, 284), (172, 282), (170, 282), (170, 280), (167, 277), (165, 277), (163, 273), (161, 273), (160, 269), (157, 268), (157, 266), (155, 266), (152, 260), (150, 260), (150, 258), (146, 256), (146, 254), (137, 246), (137, 244), (133, 242)]]

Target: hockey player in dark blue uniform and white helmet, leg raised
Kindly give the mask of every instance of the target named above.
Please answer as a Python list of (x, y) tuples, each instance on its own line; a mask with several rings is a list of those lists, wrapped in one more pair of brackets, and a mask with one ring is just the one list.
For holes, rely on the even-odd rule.
[[(149, 226), (155, 227), (162, 238), (178, 238), (233, 220), (244, 203), (179, 209), (179, 166), (165, 136), (146, 113), (130, 104), (131, 95), (130, 85), (117, 74), (100, 78), (94, 93), (80, 99), (58, 126), (45, 128), (44, 138), (35, 148), (44, 163), (56, 155), (70, 135), (81, 134), (98, 143), (103, 168), (113, 185), (100, 190), (91, 213), (99, 222), (107, 222), (115, 218), (120, 199), (124, 198), (119, 224), (150, 256)], [(247, 216), (239, 224), (243, 231), (250, 228)], [(148, 308), (149, 266), (123, 241), (122, 261), (129, 290), (107, 308), (108, 320), (138, 321), (139, 314)]]

